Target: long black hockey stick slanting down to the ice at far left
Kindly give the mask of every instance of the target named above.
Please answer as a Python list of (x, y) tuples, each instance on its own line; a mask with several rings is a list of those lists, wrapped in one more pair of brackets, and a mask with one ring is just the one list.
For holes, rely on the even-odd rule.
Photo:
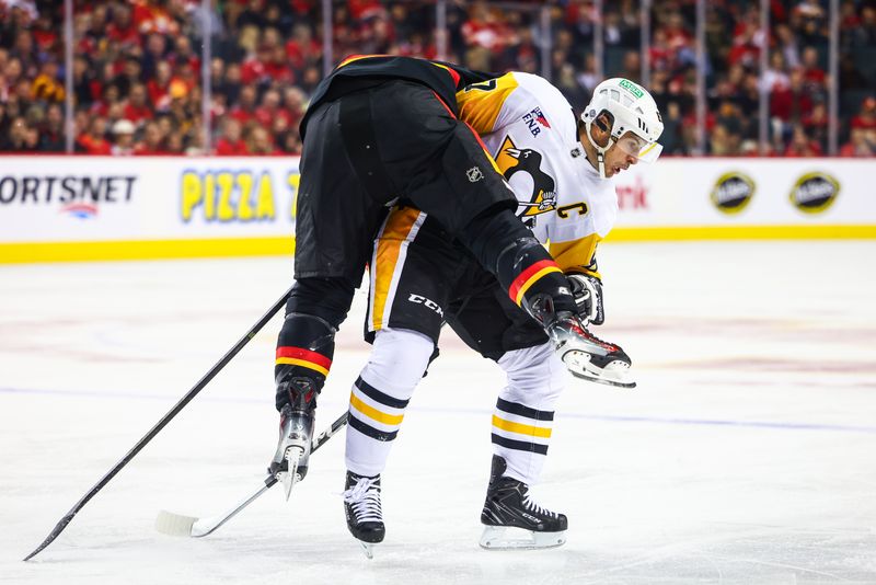
[(209, 371), (207, 371), (207, 374), (205, 374), (204, 377), (200, 380), (198, 380), (198, 382), (194, 387), (192, 387), (192, 390), (189, 390), (188, 393), (186, 393), (182, 399), (180, 399), (180, 402), (177, 402), (176, 405), (174, 408), (172, 408), (170, 410), (170, 412), (168, 412), (155, 424), (155, 426), (153, 426), (152, 429), (149, 433), (146, 434), (146, 436), (143, 436), (143, 438), (141, 438), (139, 441), (137, 441), (137, 445), (135, 445), (128, 451), (128, 454), (125, 457), (122, 458), (122, 460), (119, 460), (115, 466), (113, 466), (113, 469), (107, 471), (106, 474), (103, 478), (101, 478), (101, 481), (95, 483), (91, 487), (91, 490), (89, 490), (88, 493), (85, 495), (83, 495), (82, 498), (79, 502), (77, 502), (76, 505), (72, 508), (70, 508), (70, 512), (68, 512), (64, 516), (64, 518), (61, 518), (58, 521), (58, 524), (55, 525), (55, 528), (51, 529), (51, 532), (49, 532), (49, 535), (46, 537), (46, 539), (43, 541), (43, 543), (39, 544), (31, 554), (28, 554), (27, 557), (24, 558), (25, 561), (28, 561), (28, 560), (33, 559), (36, 554), (39, 553), (39, 551), (42, 551), (43, 549), (45, 549), (46, 547), (51, 544), (51, 542), (56, 538), (58, 538), (58, 535), (60, 535), (64, 531), (64, 529), (67, 528), (67, 525), (70, 524), (70, 520), (73, 519), (73, 516), (76, 516), (77, 513), (79, 513), (79, 511), (82, 509), (82, 507), (85, 504), (89, 503), (89, 500), (94, 497), (94, 495), (97, 492), (100, 492), (103, 489), (104, 485), (110, 483), (110, 480), (112, 480), (116, 475), (116, 473), (122, 471), (122, 468), (127, 466), (128, 462), (130, 462), (130, 460), (134, 459), (134, 457), (138, 452), (140, 452), (140, 450), (143, 447), (146, 447), (146, 445), (150, 440), (152, 440), (155, 437), (155, 435), (158, 435), (161, 432), (161, 429), (164, 428), (164, 426), (168, 423), (170, 423), (171, 420), (173, 420), (174, 416), (180, 414), (180, 411), (182, 411), (185, 408), (185, 405), (188, 404), (192, 401), (192, 399), (195, 398), (198, 394), (198, 392), (204, 390), (204, 387), (206, 387), (207, 383), (209, 383), (209, 381), (212, 380), (214, 377), (216, 377), (216, 375), (219, 374), (219, 371), (223, 367), (226, 367), (229, 362), (231, 362), (231, 358), (233, 358), (235, 355), (238, 355), (238, 353), (240, 353), (240, 351), (243, 349), (243, 346), (245, 346), (247, 343), (250, 343), (250, 340), (252, 340), (255, 336), (255, 334), (258, 333), (258, 331), (263, 326), (265, 326), (265, 324), (268, 321), (270, 321), (270, 319), (275, 314), (277, 314), (277, 312), (283, 308), (283, 306), (286, 305), (286, 300), (289, 298), (289, 295), (291, 294), (291, 291), (292, 291), (292, 289), (289, 288), (289, 290), (284, 292), (283, 297), (280, 297), (277, 300), (277, 302), (275, 302), (270, 307), (270, 309), (268, 309), (267, 312), (264, 316), (262, 316), (262, 318), (252, 328), (250, 328), (250, 331), (247, 331), (246, 334), (243, 335), (243, 337), (241, 337), (238, 341), (238, 343), (235, 343), (234, 346), (231, 347), (231, 349), (229, 349), (228, 353), (226, 355), (223, 355), (222, 358), (219, 362), (217, 362), (214, 365), (214, 367), (211, 367), (209, 369)]

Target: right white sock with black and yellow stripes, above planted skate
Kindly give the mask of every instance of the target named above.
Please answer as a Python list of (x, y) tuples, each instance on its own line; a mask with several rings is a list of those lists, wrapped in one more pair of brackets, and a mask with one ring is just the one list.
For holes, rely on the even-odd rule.
[(550, 343), (508, 352), (498, 364), (508, 386), (493, 413), (493, 452), (505, 459), (506, 475), (533, 485), (544, 467), (566, 368)]

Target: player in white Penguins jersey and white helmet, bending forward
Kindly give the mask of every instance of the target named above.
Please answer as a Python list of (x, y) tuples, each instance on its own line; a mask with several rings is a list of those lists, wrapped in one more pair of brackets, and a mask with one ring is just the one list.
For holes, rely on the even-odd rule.
[[(604, 319), (595, 253), (618, 214), (611, 177), (659, 156), (662, 122), (647, 91), (625, 79), (600, 83), (580, 118), (546, 80), (528, 73), (469, 85), (457, 99), (460, 118), (482, 136), (512, 187), (521, 221), (569, 277), (578, 314), (558, 314), (549, 337), (518, 306), (539, 272), (555, 266), (533, 265), (506, 294), (464, 249), (449, 243), (436, 221), (400, 200), (378, 234), (370, 265), (367, 329), (373, 351), (350, 395), (347, 524), (368, 546), (384, 537), (380, 473), (446, 321), (507, 374), (493, 414), (481, 544), (560, 546), (566, 517), (533, 502), (529, 486), (544, 463), (565, 369), (634, 386), (626, 354), (587, 329)], [(470, 171), (469, 180), (479, 181), (476, 169)]]

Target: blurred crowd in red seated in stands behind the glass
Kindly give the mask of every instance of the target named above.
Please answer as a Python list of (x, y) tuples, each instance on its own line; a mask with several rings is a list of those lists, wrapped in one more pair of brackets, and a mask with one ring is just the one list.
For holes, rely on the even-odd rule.
[[(545, 2), (447, 0), (447, 60), (539, 73)], [(710, 0), (706, 144), (699, 149), (695, 0), (653, 0), (641, 50), (638, 0), (603, 1), (603, 74), (642, 81), (666, 123), (670, 154), (759, 152), (760, 93), (773, 156), (828, 149), (828, 94), (839, 83), (840, 154), (876, 156), (876, 2), (841, 0), (838, 79), (828, 74), (827, 2)], [(580, 108), (597, 78), (590, 0), (554, 0), (551, 80)], [(72, 77), (74, 150), (91, 154), (296, 154), (298, 124), (323, 74), (320, 0), (74, 0), (72, 70), (65, 69), (64, 3), (0, 0), (0, 151), (66, 147), (66, 76)], [(206, 16), (206, 18), (205, 18)], [(334, 0), (333, 60), (350, 54), (438, 57), (426, 0)], [(205, 21), (210, 23), (205, 26)], [(205, 151), (201, 46), (212, 48), (210, 149)], [(761, 51), (768, 67), (761, 71)], [(334, 65), (334, 64), (330, 64)]]

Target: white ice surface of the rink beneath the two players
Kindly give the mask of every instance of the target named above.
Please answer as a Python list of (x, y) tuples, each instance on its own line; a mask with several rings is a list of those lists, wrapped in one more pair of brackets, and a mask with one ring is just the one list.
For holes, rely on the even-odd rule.
[[(633, 391), (569, 381), (535, 494), (549, 551), (477, 547), (498, 368), (447, 334), (383, 475), (387, 540), (348, 535), (344, 437), (204, 539), (276, 445), (266, 330), (28, 563), (21, 559), (290, 284), (288, 259), (0, 267), (0, 583), (876, 583), (876, 242), (606, 244)], [(364, 297), (318, 426), (367, 357)]]

